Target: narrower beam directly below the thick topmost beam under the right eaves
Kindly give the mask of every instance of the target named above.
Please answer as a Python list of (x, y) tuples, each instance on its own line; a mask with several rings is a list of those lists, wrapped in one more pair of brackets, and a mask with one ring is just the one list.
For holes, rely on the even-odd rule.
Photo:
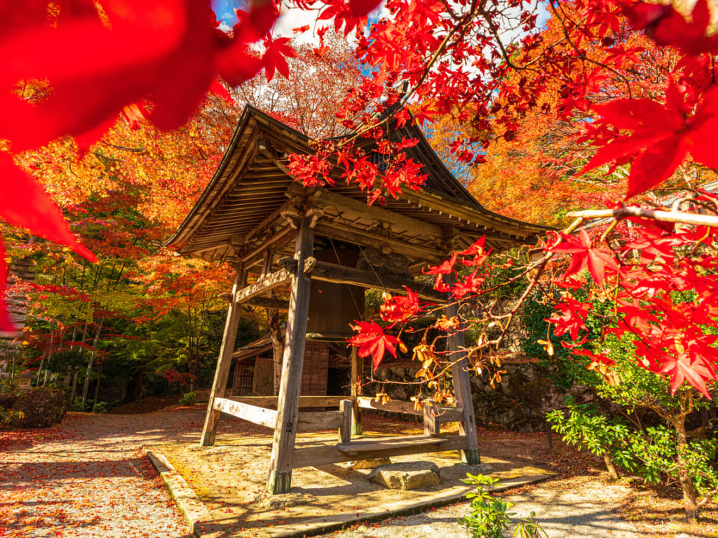
[(360, 246), (373, 246), (375, 248), (388, 246), (396, 254), (412, 259), (421, 259), (432, 264), (439, 263), (444, 259), (442, 251), (439, 251), (436, 246), (427, 246), (426, 242), (412, 244), (406, 239), (382, 236), (379, 233), (373, 233), (361, 228), (352, 228), (348, 225), (321, 220), (317, 222), (315, 230), (317, 236), (338, 239), (339, 241), (346, 241)]

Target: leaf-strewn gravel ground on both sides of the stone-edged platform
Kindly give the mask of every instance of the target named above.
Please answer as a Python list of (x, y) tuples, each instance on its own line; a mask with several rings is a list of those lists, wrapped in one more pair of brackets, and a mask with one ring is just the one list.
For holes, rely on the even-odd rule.
[[(70, 413), (51, 430), (0, 432), (0, 538), (190, 538), (141, 445), (196, 442), (204, 413), (199, 407), (139, 415)], [(241, 424), (220, 422), (220, 433), (238, 433)], [(502, 453), (522, 443), (513, 436), (503, 447), (493, 437)], [(515, 503), (510, 511), (516, 518), (535, 511), (550, 538), (644, 536), (612, 512), (627, 491), (595, 476), (576, 476), (510, 491), (504, 498)], [(468, 511), (468, 504), (455, 504), (324, 536), (464, 537), (457, 518)]]

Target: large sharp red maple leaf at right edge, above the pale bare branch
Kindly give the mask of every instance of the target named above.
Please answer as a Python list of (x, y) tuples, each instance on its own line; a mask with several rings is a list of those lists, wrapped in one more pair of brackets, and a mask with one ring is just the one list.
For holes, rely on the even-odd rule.
[(706, 93), (692, 115), (684, 97), (670, 83), (663, 106), (650, 99), (616, 99), (594, 106), (604, 123), (633, 134), (616, 136), (596, 152), (579, 174), (635, 156), (626, 193), (630, 198), (670, 177), (686, 154), (690, 153), (696, 162), (718, 168), (718, 152), (712, 142), (718, 129), (718, 89)]

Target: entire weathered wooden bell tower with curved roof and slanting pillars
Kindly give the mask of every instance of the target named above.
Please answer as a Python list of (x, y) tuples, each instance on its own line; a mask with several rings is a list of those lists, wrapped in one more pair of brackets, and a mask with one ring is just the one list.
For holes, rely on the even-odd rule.
[[(292, 468), (358, 458), (460, 450), (467, 463), (479, 463), (471, 387), (462, 334), (449, 338), (457, 407), (391, 402), (383, 409), (424, 415), (424, 436), (352, 440), (360, 433), (360, 409), (377, 407), (357, 394), (360, 361), (352, 356), (352, 398), (301, 394), (307, 340), (344, 341), (348, 323), (363, 315), (363, 290), (416, 291), (424, 300), (447, 302), (430, 284), (412, 277), (438, 264), (452, 250), (465, 249), (481, 236), (503, 250), (531, 243), (547, 228), (486, 210), (447, 170), (414, 126), (391, 129), (398, 140), (418, 139), (407, 157), (424, 165), (424, 190), (406, 192), (386, 205), (367, 207), (358, 185), (302, 187), (286, 168), (289, 154), (312, 152), (309, 139), (247, 106), (217, 172), (167, 245), (179, 254), (223, 260), (237, 267), (220, 357), (210, 394), (202, 446), (213, 445), (220, 412), (274, 428), (267, 491), (286, 493)], [(371, 147), (365, 148), (368, 151)], [(380, 156), (380, 154), (376, 154)], [(258, 275), (248, 282), (248, 275)], [(289, 300), (271, 295), (288, 292)], [(286, 295), (285, 295), (286, 297)], [(241, 305), (288, 311), (279, 396), (248, 403), (225, 398)], [(457, 312), (447, 305), (447, 315)], [(355, 351), (355, 350), (354, 350)], [(261, 358), (257, 355), (255, 361)], [(299, 412), (300, 407), (340, 403), (338, 411)], [(270, 409), (276, 404), (276, 410)], [(352, 427), (352, 421), (354, 427)], [(459, 422), (460, 435), (441, 437), (440, 422)], [(338, 428), (340, 442), (296, 447), (297, 431)]]

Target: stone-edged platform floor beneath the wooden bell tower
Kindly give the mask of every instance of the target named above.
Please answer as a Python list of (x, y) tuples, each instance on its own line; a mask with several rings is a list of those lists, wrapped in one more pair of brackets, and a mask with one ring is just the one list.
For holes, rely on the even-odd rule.
[[(297, 438), (297, 445), (332, 442), (336, 442), (336, 434)], [(214, 447), (187, 443), (144, 446), (193, 532), (203, 538), (301, 537), (360, 521), (411, 514), (463, 500), (473, 489), (461, 482), (467, 473), (499, 478), (498, 490), (553, 476), (542, 468), (498, 458), (482, 458), (483, 465), (490, 465), (488, 469), (472, 468), (461, 463), (455, 451), (406, 455), (391, 460), (434, 462), (442, 483), (419, 490), (389, 490), (367, 480), (370, 470), (351, 470), (345, 464), (322, 465), (294, 469), (292, 493), (275, 496), (274, 506), (266, 506), (262, 501), (266, 501), (270, 450), (269, 435), (222, 438)]]

